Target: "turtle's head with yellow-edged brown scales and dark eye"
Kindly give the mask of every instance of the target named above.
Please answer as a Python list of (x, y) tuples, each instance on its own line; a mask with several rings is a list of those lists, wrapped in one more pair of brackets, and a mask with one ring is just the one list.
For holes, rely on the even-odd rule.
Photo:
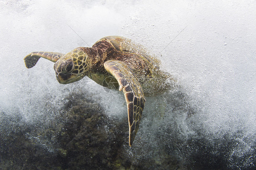
[(87, 75), (88, 55), (80, 47), (62, 56), (54, 64), (54, 70), (59, 83), (68, 84), (82, 79)]

